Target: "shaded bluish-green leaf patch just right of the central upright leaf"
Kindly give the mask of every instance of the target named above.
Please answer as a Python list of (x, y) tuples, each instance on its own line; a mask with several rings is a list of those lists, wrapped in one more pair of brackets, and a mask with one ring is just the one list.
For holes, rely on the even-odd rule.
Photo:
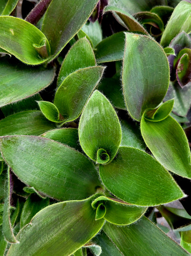
[(121, 120), (122, 138), (120, 147), (131, 147), (145, 150), (146, 144), (140, 133), (140, 128), (132, 119)]

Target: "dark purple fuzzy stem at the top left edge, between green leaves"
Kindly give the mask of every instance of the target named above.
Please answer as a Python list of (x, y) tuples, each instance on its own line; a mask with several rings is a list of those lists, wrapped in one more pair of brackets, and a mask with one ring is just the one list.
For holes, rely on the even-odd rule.
[(52, 0), (41, 0), (25, 18), (26, 21), (36, 25), (42, 18)]

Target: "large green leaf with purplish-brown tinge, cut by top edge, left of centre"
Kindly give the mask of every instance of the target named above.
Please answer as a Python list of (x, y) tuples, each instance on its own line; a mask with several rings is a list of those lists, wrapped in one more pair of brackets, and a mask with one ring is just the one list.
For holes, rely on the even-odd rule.
[[(51, 46), (50, 60), (62, 51), (85, 24), (97, 3), (98, 0), (51, 1), (42, 25), (42, 32)], [(56, 13), (56, 18), (52, 13)]]

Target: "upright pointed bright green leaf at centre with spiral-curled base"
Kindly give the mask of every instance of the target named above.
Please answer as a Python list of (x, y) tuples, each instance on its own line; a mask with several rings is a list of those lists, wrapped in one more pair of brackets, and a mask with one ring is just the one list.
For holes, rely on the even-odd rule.
[(98, 163), (112, 161), (121, 142), (121, 126), (107, 98), (96, 90), (79, 121), (79, 142), (84, 152)]

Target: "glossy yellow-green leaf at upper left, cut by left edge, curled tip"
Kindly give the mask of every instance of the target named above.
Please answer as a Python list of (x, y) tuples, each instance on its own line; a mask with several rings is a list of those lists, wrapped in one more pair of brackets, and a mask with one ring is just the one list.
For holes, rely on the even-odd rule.
[(0, 16), (0, 47), (30, 65), (46, 61), (50, 45), (33, 24), (12, 16)]

